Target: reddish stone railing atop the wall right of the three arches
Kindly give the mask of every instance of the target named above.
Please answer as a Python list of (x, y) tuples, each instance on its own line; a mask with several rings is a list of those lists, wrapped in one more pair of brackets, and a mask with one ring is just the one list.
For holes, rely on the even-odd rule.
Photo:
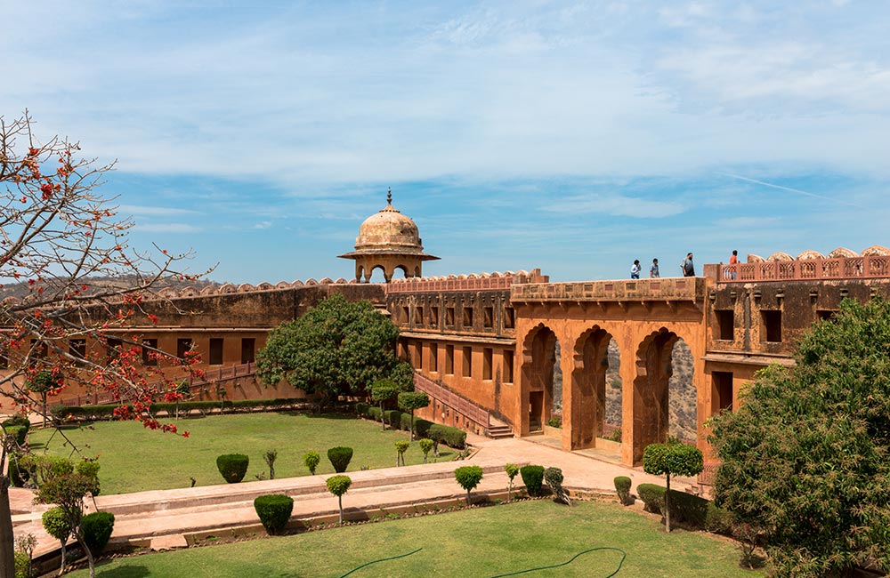
[(795, 261), (760, 261), (732, 265), (706, 265), (716, 268), (718, 283), (753, 283), (757, 281), (821, 281), (828, 279), (875, 279), (890, 277), (890, 257), (838, 257), (836, 259), (798, 259)]

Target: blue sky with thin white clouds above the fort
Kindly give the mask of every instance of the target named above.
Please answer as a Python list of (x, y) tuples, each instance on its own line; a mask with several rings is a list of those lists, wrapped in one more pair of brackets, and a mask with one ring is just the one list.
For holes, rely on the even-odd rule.
[[(354, 276), (417, 222), (425, 275), (662, 276), (695, 253), (890, 245), (890, 4), (4, 2), (0, 115), (117, 159), (132, 245), (252, 283)], [(884, 38), (883, 40), (881, 38)], [(382, 280), (378, 272), (375, 281)]]

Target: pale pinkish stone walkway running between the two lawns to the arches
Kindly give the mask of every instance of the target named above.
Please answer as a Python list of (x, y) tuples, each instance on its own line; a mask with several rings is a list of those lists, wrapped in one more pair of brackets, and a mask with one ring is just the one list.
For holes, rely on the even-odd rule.
[[(664, 484), (663, 478), (650, 476), (641, 469), (631, 469), (615, 462), (613, 454), (596, 450), (564, 452), (543, 437), (490, 439), (468, 435), (467, 442), (479, 451), (466, 462), (440, 462), (384, 470), (349, 472), (352, 487), (344, 495), (344, 509), (353, 518), (384, 516), (386, 510), (406, 504), (453, 501), (465, 496), (454, 480), (454, 470), (461, 465), (479, 465), (485, 471), (473, 494), (503, 492), (507, 487), (505, 463), (534, 463), (562, 469), (564, 484), (613, 495), (614, 478), (627, 476), (633, 487), (640, 483)], [(262, 494), (287, 494), (295, 499), (293, 519), (332, 517), (337, 513), (336, 497), (328, 494), (327, 476), (306, 476), (158, 490), (136, 494), (101, 495), (99, 509), (115, 514), (112, 542), (137, 542), (155, 549), (184, 546), (183, 534), (231, 531), (231, 528), (259, 526), (254, 498)], [(692, 480), (677, 480), (682, 489)], [(517, 476), (515, 483), (522, 486)], [(15, 533), (35, 534), (35, 554), (54, 550), (59, 542), (44, 533), (40, 516), (49, 506), (34, 505), (28, 490), (11, 489), (12, 521)], [(88, 504), (93, 510), (93, 504)]]

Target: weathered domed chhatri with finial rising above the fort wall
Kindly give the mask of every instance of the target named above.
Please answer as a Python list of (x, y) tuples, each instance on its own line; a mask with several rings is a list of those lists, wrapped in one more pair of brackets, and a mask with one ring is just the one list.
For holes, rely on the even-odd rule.
[(417, 224), (392, 206), (392, 189), (386, 193), (386, 206), (366, 219), (355, 239), (355, 251), (339, 255), (355, 261), (355, 280), (366, 283), (374, 269), (383, 269), (386, 283), (396, 269), (405, 277), (421, 277), (421, 263), (439, 259), (424, 253)]

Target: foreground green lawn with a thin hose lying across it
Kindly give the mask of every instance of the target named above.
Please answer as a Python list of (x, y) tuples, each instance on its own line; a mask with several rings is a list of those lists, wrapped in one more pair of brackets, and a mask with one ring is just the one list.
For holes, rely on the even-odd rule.
[[(366, 562), (421, 547), (424, 550), (417, 554), (366, 566), (351, 576), (494, 576), (559, 564), (597, 547), (627, 552), (619, 578), (764, 575), (740, 569), (738, 548), (709, 534), (678, 530), (668, 535), (656, 518), (614, 503), (577, 502), (567, 508), (546, 500), (118, 558), (99, 566), (96, 574), (103, 578), (341, 576)], [(595, 551), (568, 566), (524, 575), (607, 576), (620, 558), (615, 551)]]

